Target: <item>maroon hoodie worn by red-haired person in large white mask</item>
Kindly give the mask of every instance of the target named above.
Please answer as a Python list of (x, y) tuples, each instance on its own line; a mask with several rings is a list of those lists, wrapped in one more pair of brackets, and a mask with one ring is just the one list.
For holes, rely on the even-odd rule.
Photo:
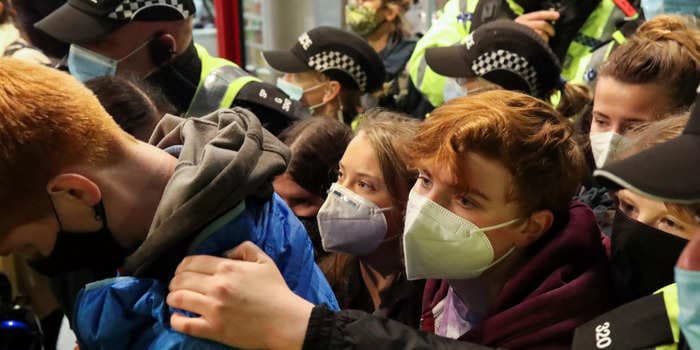
[[(525, 254), (489, 314), (461, 340), (509, 349), (569, 349), (576, 327), (610, 308), (608, 261), (586, 205), (573, 202), (568, 222), (550, 229)], [(445, 280), (426, 283), (423, 330), (434, 330), (433, 309), (448, 289)]]

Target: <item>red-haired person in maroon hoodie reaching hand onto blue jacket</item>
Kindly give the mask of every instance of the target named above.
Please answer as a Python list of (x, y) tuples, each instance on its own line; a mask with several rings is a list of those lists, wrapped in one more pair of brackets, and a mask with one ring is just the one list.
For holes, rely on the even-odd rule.
[[(569, 349), (574, 328), (608, 308), (599, 231), (588, 208), (570, 203), (584, 171), (573, 133), (551, 106), (510, 91), (455, 99), (421, 125), (403, 243), (408, 278), (438, 278), (423, 295), (427, 333), (304, 303), (249, 244), (232, 253), (238, 261), (180, 265), (168, 303), (202, 317), (172, 325), (247, 348)], [(194, 276), (227, 293), (197, 288)]]

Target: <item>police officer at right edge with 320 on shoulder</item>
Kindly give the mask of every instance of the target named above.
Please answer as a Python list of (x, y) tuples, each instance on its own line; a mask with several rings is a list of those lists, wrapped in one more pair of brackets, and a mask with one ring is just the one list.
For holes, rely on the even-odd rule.
[[(682, 205), (693, 210), (697, 216), (700, 203), (700, 181), (697, 177), (700, 95), (695, 101), (695, 109), (683, 134), (596, 170), (596, 179), (609, 189), (628, 189), (648, 198)], [(641, 230), (632, 233), (637, 236), (646, 234)], [(700, 232), (694, 233), (695, 243), (698, 235)], [(644, 242), (651, 242), (649, 246), (654, 247), (638, 252), (650, 260), (649, 266), (669, 268), (665, 266), (668, 259), (660, 254), (667, 245), (650, 235), (644, 236)], [(680, 249), (683, 246), (688, 248), (688, 245), (683, 243)], [(680, 249), (674, 250), (673, 258)], [(697, 275), (690, 271), (695, 269), (689, 265), (688, 254), (691, 253), (688, 251), (679, 259), (680, 268), (675, 273), (678, 285), (670, 284), (580, 326), (576, 329), (573, 349), (696, 349), (700, 342), (692, 329), (697, 327), (694, 323), (697, 320), (691, 315), (697, 314), (697, 299), (693, 298), (696, 291), (694, 282), (689, 278), (694, 279)], [(647, 268), (644, 272), (649, 280), (665, 277), (661, 276), (660, 270)], [(668, 282), (671, 282), (670, 279)]]

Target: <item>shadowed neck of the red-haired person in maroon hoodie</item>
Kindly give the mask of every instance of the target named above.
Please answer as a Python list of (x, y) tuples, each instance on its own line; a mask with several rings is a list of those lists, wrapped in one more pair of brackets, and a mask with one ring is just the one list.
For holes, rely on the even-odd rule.
[(518, 266), (522, 265), (523, 252), (516, 249), (496, 266), (484, 271), (475, 278), (448, 280), (457, 296), (473, 312), (483, 317), (496, 303), (503, 286), (508, 282)]

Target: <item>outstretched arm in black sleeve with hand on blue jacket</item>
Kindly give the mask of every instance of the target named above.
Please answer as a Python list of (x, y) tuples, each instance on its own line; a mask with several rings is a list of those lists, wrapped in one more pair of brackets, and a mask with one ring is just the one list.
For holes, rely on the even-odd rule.
[(180, 264), (168, 304), (201, 317), (174, 314), (175, 330), (240, 348), (488, 349), (364, 312), (314, 307), (289, 290), (274, 262), (250, 242), (228, 257)]

